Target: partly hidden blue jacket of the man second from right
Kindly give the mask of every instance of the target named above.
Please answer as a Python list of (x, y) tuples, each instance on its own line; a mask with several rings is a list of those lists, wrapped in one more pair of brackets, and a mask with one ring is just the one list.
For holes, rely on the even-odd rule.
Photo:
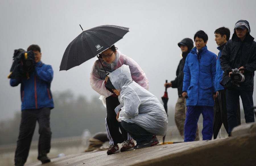
[(216, 91), (220, 91), (220, 90), (224, 89), (224, 87), (222, 85), (220, 85), (220, 81), (222, 80), (222, 76), (223, 76), (223, 70), (220, 67), (220, 55), (221, 55), (221, 51), (224, 48), (225, 44), (217, 47), (217, 49), (220, 50), (220, 52), (219, 52), (218, 58), (216, 60), (216, 77), (215, 77), (215, 81), (214, 81), (214, 88)]

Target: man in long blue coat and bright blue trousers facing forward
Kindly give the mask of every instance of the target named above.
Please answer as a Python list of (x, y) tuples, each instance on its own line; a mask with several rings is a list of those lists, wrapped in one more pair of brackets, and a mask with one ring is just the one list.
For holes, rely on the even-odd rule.
[(207, 34), (200, 30), (194, 36), (196, 47), (187, 55), (183, 69), (183, 93), (187, 98), (184, 142), (194, 141), (197, 122), (203, 115), (203, 140), (213, 135), (213, 105), (215, 93), (213, 82), (216, 75), (216, 54), (207, 50)]

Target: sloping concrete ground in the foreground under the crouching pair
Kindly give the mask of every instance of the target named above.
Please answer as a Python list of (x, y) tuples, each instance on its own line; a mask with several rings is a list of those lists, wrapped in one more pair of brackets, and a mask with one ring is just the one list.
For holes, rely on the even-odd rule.
[[(84, 152), (52, 158), (43, 166), (255, 166), (255, 154), (253, 123), (238, 127), (228, 138), (157, 145), (112, 155), (106, 151)], [(25, 166), (42, 165), (38, 161)]]

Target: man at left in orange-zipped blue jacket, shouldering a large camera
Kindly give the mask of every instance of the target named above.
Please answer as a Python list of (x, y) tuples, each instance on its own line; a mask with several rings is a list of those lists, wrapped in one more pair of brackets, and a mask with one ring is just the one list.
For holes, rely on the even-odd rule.
[(34, 72), (29, 78), (10, 80), (10, 85), (13, 87), (21, 84), (21, 122), (15, 152), (15, 166), (23, 166), (27, 160), (37, 121), (40, 134), (38, 159), (43, 164), (50, 162), (47, 153), (51, 148), (50, 112), (54, 108), (50, 90), (53, 70), (51, 65), (42, 63), (42, 53), (38, 45), (30, 45), (28, 51), (30, 50), (35, 54)]

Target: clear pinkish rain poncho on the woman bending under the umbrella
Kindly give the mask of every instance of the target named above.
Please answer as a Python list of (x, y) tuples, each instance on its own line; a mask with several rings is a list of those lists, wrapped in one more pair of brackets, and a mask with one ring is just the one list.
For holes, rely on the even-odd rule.
[[(130, 67), (132, 79), (141, 85), (143, 88), (148, 90), (148, 79), (146, 74), (143, 72), (141, 67), (133, 59), (121, 54), (120, 51), (116, 51), (115, 60), (111, 64), (107, 64), (102, 58), (100, 58), (104, 68), (108, 72), (113, 72), (117, 68), (126, 64)], [(90, 84), (92, 89), (103, 96), (111, 96), (113, 93), (108, 91), (105, 87), (106, 74), (103, 70), (99, 60), (96, 60), (90, 73)]]

